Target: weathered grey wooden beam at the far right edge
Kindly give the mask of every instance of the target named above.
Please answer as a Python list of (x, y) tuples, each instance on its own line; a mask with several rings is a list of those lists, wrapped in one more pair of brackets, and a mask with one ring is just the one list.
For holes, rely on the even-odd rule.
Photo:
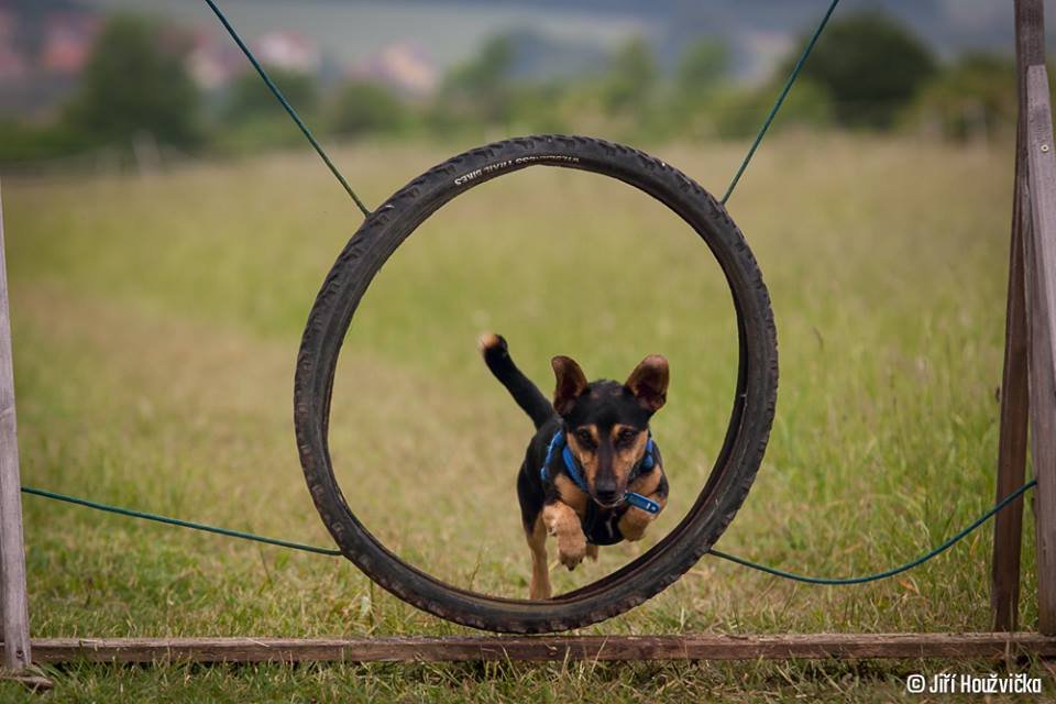
[(1026, 74), (1032, 228), (1025, 277), (1030, 320), (1031, 455), (1035, 490), (1038, 626), (1056, 634), (1056, 152), (1044, 65)]

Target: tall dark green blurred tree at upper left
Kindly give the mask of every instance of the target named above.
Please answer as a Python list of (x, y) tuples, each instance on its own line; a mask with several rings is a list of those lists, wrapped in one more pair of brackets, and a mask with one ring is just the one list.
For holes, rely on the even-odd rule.
[(67, 124), (98, 142), (128, 143), (142, 132), (179, 146), (198, 142), (200, 97), (184, 69), (185, 48), (150, 20), (110, 18), (67, 106)]

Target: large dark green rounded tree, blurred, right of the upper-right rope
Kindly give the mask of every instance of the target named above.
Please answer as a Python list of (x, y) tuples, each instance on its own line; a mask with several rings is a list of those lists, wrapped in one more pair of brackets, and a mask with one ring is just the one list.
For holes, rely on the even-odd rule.
[[(785, 61), (782, 75), (791, 72), (802, 44)], [(866, 10), (833, 21), (801, 75), (831, 92), (839, 122), (888, 128), (935, 68), (931, 50), (911, 30), (883, 12)]]

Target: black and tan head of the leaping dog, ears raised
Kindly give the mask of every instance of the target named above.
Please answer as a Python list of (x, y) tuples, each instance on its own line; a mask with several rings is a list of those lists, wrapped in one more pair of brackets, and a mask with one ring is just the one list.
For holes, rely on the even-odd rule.
[(623, 384), (587, 383), (571, 358), (556, 356), (551, 365), (558, 381), (553, 408), (564, 419), (569, 448), (591, 496), (601, 506), (617, 506), (645, 455), (649, 419), (667, 400), (668, 361), (650, 354)]

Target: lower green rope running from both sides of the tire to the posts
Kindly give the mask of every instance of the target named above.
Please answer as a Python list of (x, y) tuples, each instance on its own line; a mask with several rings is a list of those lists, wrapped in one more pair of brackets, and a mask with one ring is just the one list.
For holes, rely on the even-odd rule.
[[(905, 564), (892, 568), (890, 570), (884, 570), (883, 572), (877, 572), (876, 574), (867, 574), (865, 576), (851, 576), (845, 579), (828, 579), (828, 578), (818, 578), (818, 576), (804, 576), (802, 574), (795, 574), (792, 572), (785, 572), (784, 570), (778, 570), (776, 568), (770, 568), (765, 564), (759, 564), (757, 562), (751, 562), (750, 560), (745, 560), (744, 558), (738, 558), (737, 556), (729, 554), (727, 552), (722, 552), (721, 550), (710, 550), (710, 554), (721, 558), (723, 560), (728, 560), (729, 562), (735, 562), (741, 566), (750, 568), (752, 570), (758, 570), (759, 572), (766, 572), (767, 574), (772, 574), (774, 576), (784, 578), (787, 580), (794, 580), (796, 582), (805, 582), (807, 584), (862, 584), (865, 582), (876, 582), (877, 580), (883, 580), (889, 576), (894, 576), (895, 574), (901, 574), (908, 570), (927, 562), (932, 558), (937, 557), (938, 554), (945, 552), (952, 548), (955, 543), (964, 540), (969, 534), (979, 528), (982, 524), (987, 522), (993, 516), (1000, 512), (1002, 508), (1014, 502), (1016, 498), (1022, 496), (1027, 490), (1033, 488), (1037, 484), (1037, 480), (1031, 480), (1020, 488), (1015, 490), (1000, 502), (994, 505), (993, 508), (988, 510), (986, 514), (974, 520), (967, 528), (955, 535), (953, 538), (949, 538), (937, 548), (930, 550), (928, 552), (922, 554), (915, 560), (911, 560)], [(292, 550), (301, 550), (304, 552), (315, 552), (317, 554), (326, 554), (337, 557), (341, 554), (340, 550), (333, 548), (318, 548), (316, 546), (308, 546), (300, 542), (292, 542), (289, 540), (280, 540), (278, 538), (267, 538), (265, 536), (258, 536), (256, 534), (246, 532), (243, 530), (231, 530), (230, 528), (218, 528), (217, 526), (208, 526), (206, 524), (198, 524), (190, 520), (183, 520), (180, 518), (170, 518), (168, 516), (160, 516), (158, 514), (151, 514), (142, 510), (133, 510), (131, 508), (121, 508), (120, 506), (110, 506), (108, 504), (100, 504), (98, 502), (88, 501), (86, 498), (79, 498), (77, 496), (68, 496), (66, 494), (58, 494), (57, 492), (48, 492), (41, 488), (33, 488), (30, 486), (23, 486), (22, 491), (26, 494), (32, 494), (33, 496), (43, 496), (44, 498), (52, 498), (59, 502), (66, 502), (68, 504), (76, 504), (78, 506), (87, 506), (88, 508), (95, 508), (97, 510), (103, 510), (111, 514), (118, 514), (120, 516), (129, 516), (131, 518), (142, 518), (144, 520), (154, 520), (161, 524), (168, 524), (170, 526), (178, 526), (180, 528), (191, 528), (194, 530), (204, 530), (207, 532), (215, 532), (221, 536), (227, 536), (229, 538), (240, 538), (242, 540), (254, 540), (256, 542), (264, 542), (272, 546), (278, 546), (280, 548), (289, 548)]]

